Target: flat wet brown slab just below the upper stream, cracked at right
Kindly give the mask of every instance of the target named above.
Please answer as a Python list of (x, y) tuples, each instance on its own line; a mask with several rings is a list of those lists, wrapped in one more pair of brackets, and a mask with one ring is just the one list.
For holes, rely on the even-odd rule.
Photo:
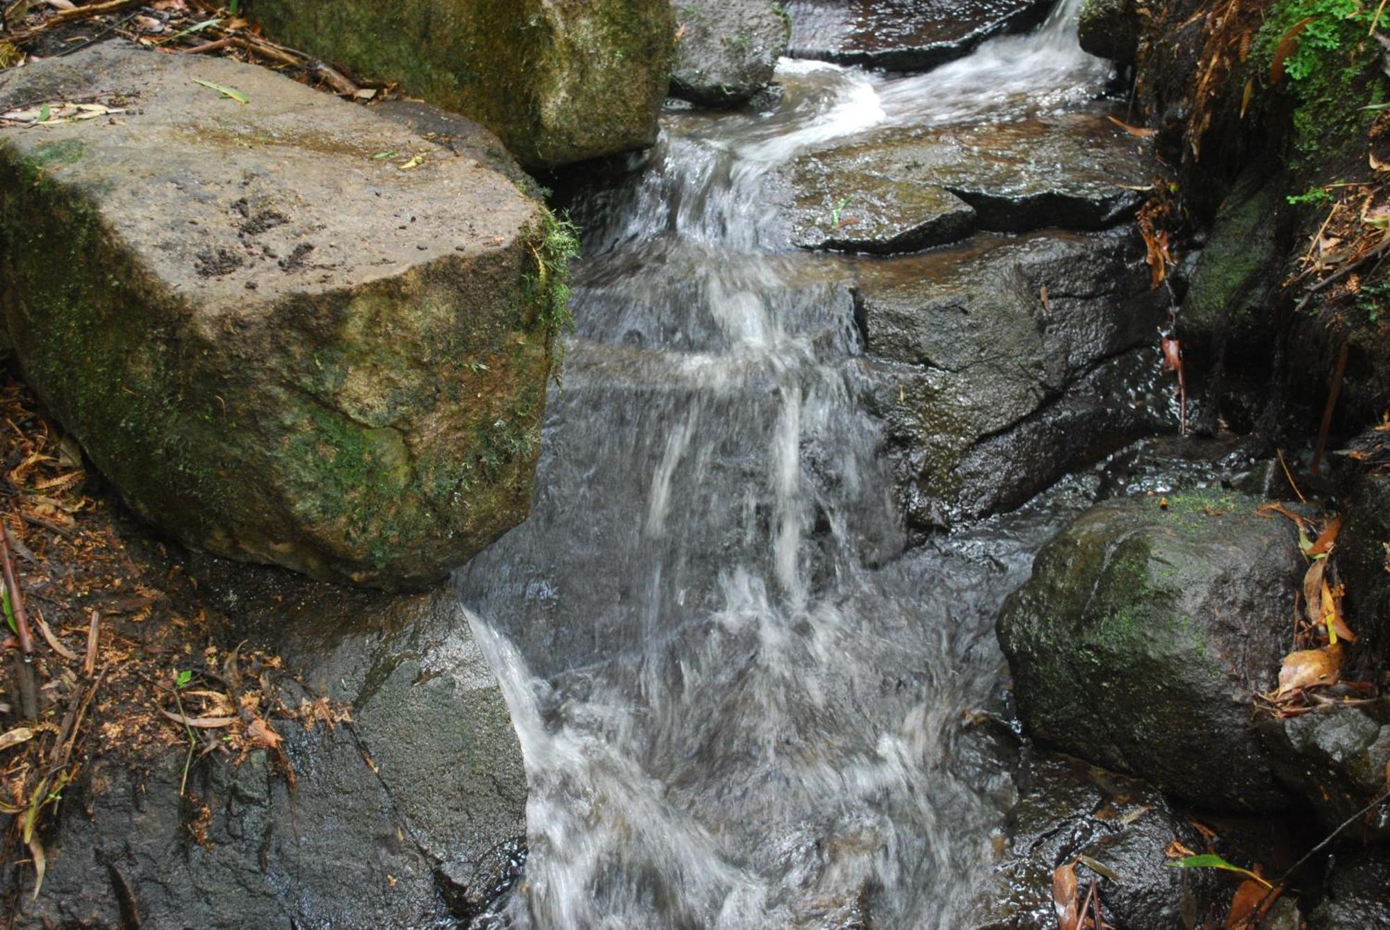
[(885, 135), (792, 162), (792, 242), (894, 253), (974, 228), (1102, 229), (1138, 208), (1151, 175), (1148, 144), (1098, 112)]

